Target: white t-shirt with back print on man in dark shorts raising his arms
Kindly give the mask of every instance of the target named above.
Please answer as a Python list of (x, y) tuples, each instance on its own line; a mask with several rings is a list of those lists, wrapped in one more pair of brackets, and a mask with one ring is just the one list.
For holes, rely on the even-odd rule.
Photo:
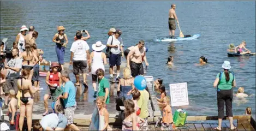
[(87, 60), (86, 51), (89, 49), (90, 47), (85, 40), (76, 40), (75, 42), (73, 42), (70, 48), (70, 51), (74, 53), (73, 60), (86, 61)]

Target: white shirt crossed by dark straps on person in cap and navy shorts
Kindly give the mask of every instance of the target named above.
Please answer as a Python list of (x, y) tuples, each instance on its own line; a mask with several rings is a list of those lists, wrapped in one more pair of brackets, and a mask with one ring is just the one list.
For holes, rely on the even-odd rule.
[(112, 38), (113, 38), (112, 45), (118, 45), (118, 47), (111, 47), (110, 51), (111, 53), (118, 54), (121, 52), (120, 46), (123, 46), (123, 40), (121, 37), (116, 39), (115, 35), (111, 35), (108, 41), (106, 42), (106, 44), (111, 45)]

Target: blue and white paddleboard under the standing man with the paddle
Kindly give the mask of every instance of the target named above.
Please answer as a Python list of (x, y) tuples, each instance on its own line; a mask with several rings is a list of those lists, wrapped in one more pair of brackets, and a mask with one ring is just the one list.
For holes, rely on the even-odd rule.
[(157, 38), (156, 41), (161, 41), (161, 42), (171, 42), (171, 41), (180, 41), (180, 40), (193, 40), (193, 39), (197, 39), (198, 37), (200, 37), (200, 34), (194, 34), (194, 35), (184, 35), (183, 38), (181, 37), (177, 37), (175, 39), (170, 38), (170, 37), (165, 37), (165, 38)]

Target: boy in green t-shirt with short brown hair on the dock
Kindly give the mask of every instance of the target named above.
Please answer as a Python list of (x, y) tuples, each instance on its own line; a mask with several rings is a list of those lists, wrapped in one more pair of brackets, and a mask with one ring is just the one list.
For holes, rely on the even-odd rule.
[(99, 68), (96, 70), (99, 82), (99, 97), (105, 97), (106, 104), (109, 104), (109, 80), (104, 78), (104, 70)]

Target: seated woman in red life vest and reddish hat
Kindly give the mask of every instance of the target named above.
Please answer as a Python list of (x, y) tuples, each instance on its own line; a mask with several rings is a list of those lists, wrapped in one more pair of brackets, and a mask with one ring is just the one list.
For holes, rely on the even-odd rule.
[(47, 72), (45, 82), (49, 87), (49, 94), (44, 95), (44, 107), (45, 107), (45, 112), (43, 116), (48, 114), (48, 99), (51, 99), (52, 97), (58, 97), (54, 96), (56, 88), (58, 86), (62, 85), (62, 80), (61, 80), (61, 73), (58, 72), (59, 64), (56, 62), (52, 62), (51, 64), (51, 69), (52, 71)]

